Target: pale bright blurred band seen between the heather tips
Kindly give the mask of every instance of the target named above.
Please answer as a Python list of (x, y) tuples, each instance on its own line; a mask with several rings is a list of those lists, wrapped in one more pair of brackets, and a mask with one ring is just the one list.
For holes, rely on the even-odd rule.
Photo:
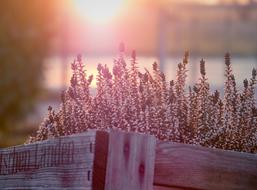
[[(44, 85), (49, 90), (59, 90), (65, 86), (69, 85), (69, 79), (71, 77), (72, 71), (70, 69), (70, 63), (74, 60), (74, 57), (70, 56), (66, 59), (61, 57), (49, 57), (45, 60), (46, 69), (44, 71)], [(107, 65), (110, 70), (113, 66), (114, 57), (87, 57), (84, 56), (84, 63), (86, 65), (87, 74), (93, 74), (94, 78), (97, 75), (97, 65), (101, 63), (102, 65)], [(130, 58), (127, 59), (127, 64), (129, 65)], [(190, 58), (188, 65), (188, 79), (187, 84), (192, 85), (198, 81), (200, 76), (199, 73), (199, 62), (201, 57)], [(224, 84), (224, 58), (221, 57), (206, 57), (206, 72), (211, 88), (221, 89)], [(152, 63), (158, 62), (157, 57), (153, 56), (143, 56), (138, 57), (138, 67), (140, 71), (144, 71), (144, 68), (151, 70)], [(169, 57), (166, 59), (165, 64), (162, 65), (163, 71), (166, 75), (167, 80), (173, 80), (176, 78), (177, 64), (182, 61), (181, 57)], [(255, 57), (232, 57), (232, 68), (233, 73), (236, 77), (237, 85), (242, 87), (243, 80), (245, 78), (250, 78), (252, 69), (257, 68), (257, 59)], [(66, 72), (63, 71), (66, 64)], [(64, 77), (63, 75), (66, 74)], [(65, 82), (63, 81), (65, 80)], [(92, 83), (92, 87), (96, 86), (95, 80)]]

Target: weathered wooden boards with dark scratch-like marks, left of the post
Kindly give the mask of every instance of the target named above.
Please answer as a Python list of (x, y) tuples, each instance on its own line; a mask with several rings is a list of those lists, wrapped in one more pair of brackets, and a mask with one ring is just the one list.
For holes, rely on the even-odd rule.
[(95, 132), (0, 150), (0, 189), (92, 189)]

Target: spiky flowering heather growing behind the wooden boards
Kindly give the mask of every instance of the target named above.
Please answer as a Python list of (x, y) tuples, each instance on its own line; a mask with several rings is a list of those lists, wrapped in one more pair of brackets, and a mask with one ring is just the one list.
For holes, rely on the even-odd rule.
[(157, 63), (151, 72), (139, 72), (135, 51), (127, 62), (121, 45), (112, 71), (98, 65), (93, 96), (89, 92), (93, 76), (87, 76), (78, 56), (71, 64), (70, 87), (61, 95), (59, 111), (49, 107), (48, 117), (29, 142), (89, 129), (119, 129), (152, 134), (161, 140), (257, 153), (256, 69), (252, 78), (244, 80), (240, 92), (226, 54), (221, 98), (218, 91), (210, 91), (204, 60), (199, 81), (186, 91), (188, 57), (186, 52), (176, 79), (168, 82)]

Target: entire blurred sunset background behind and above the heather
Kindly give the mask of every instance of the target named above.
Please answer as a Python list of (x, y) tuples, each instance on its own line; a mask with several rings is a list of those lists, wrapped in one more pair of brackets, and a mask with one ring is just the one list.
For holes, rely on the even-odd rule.
[(257, 1), (1, 0), (0, 147), (23, 143), (48, 105), (58, 108), (78, 53), (96, 74), (98, 63), (112, 66), (120, 42), (128, 57), (137, 51), (140, 69), (158, 61), (168, 79), (188, 50), (188, 84), (204, 58), (211, 89), (221, 91), (229, 51), (240, 87), (257, 67)]

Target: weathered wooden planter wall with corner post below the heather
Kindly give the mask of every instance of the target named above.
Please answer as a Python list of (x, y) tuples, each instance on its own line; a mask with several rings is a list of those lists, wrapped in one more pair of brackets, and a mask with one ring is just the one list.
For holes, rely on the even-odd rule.
[(0, 189), (257, 189), (257, 155), (90, 131), (0, 150)]

